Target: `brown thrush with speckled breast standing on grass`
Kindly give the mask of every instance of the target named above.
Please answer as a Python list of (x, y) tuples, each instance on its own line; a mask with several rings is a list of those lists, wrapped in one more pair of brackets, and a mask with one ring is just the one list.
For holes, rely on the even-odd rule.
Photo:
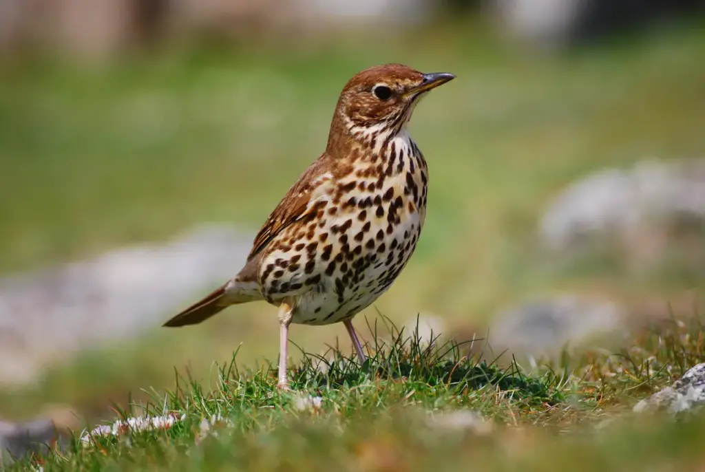
[(426, 218), (429, 170), (407, 124), (422, 97), (454, 78), (398, 63), (353, 75), (325, 151), (266, 219), (240, 272), (164, 326), (195, 325), (228, 306), (265, 301), (278, 307), (278, 388), (291, 390), (291, 323), (342, 322), (364, 364), (352, 319), (396, 280)]

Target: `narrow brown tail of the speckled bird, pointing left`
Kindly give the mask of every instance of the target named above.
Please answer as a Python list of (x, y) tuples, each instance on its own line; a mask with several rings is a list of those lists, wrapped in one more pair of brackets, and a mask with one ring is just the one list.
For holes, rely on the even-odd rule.
[(192, 304), (164, 323), (164, 326), (196, 325), (219, 313), (219, 311), (228, 308), (228, 306), (254, 302), (259, 299), (262, 299), (262, 295), (259, 293), (256, 283), (228, 280), (228, 282), (204, 297), (200, 302)]

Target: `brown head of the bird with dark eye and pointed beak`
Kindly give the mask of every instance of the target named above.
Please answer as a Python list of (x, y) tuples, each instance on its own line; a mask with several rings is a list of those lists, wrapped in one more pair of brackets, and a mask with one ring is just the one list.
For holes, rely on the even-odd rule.
[[(448, 73), (422, 73), (400, 64), (362, 70), (343, 87), (333, 123), (356, 140), (400, 132), (419, 99), (429, 90), (453, 80)], [(333, 136), (331, 135), (331, 138)]]

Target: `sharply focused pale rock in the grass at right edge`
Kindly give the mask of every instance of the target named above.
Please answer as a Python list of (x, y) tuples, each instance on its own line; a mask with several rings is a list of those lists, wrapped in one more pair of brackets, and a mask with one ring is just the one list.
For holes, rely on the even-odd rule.
[(673, 385), (666, 387), (634, 406), (636, 413), (666, 411), (682, 414), (699, 409), (705, 404), (705, 364), (689, 369)]

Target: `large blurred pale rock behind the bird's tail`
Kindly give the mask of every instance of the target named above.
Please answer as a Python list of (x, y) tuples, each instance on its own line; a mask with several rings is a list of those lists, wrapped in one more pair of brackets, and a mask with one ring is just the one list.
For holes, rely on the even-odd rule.
[(0, 280), (0, 383), (30, 381), (44, 363), (159, 325), (232, 277), (251, 242), (210, 225)]

